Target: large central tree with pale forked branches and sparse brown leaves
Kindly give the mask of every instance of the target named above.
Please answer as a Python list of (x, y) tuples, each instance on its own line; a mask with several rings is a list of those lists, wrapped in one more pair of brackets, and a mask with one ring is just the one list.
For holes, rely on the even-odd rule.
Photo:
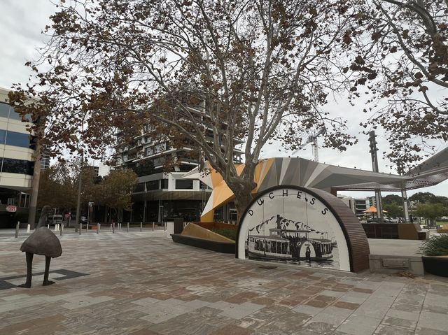
[[(295, 149), (305, 133), (325, 128), (327, 147), (354, 142), (321, 106), (344, 88), (341, 55), (356, 3), (60, 1), (42, 58), (28, 63), (36, 85), (16, 85), (10, 101), (45, 117), (45, 141), (59, 149), (80, 150), (83, 141), (99, 156), (117, 131), (132, 138), (148, 122), (172, 143), (187, 137), (221, 173), (240, 216), (272, 139)], [(39, 104), (25, 104), (28, 96)], [(244, 141), (241, 173), (235, 138)]]

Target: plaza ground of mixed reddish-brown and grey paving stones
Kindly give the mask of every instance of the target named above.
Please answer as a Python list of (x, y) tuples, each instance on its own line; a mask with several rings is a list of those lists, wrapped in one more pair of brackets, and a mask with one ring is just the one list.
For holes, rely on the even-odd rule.
[(0, 334), (448, 334), (446, 278), (263, 266), (132, 229), (64, 234), (56, 283), (35, 255), (25, 289), (25, 237), (0, 234)]

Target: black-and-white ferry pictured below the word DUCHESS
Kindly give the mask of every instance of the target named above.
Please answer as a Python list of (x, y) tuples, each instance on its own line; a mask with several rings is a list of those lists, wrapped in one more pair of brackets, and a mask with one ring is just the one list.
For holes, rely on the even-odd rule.
[(276, 228), (270, 228), (269, 235), (260, 235), (265, 224), (273, 219), (274, 217), (249, 229), (246, 242), (249, 258), (309, 262), (332, 259), (332, 250), (336, 245), (328, 239), (328, 233), (316, 231), (302, 222), (277, 215)]

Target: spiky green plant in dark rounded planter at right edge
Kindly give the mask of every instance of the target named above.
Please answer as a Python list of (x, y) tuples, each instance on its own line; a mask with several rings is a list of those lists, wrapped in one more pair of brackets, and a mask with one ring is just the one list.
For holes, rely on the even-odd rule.
[(425, 271), (448, 277), (448, 234), (431, 236), (420, 247)]

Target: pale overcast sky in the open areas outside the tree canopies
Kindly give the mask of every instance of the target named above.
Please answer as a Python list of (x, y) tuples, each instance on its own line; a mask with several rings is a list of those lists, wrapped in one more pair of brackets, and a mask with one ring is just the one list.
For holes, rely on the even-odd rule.
[[(46, 24), (50, 23), (49, 16), (56, 10), (55, 6), (49, 0), (0, 0), (0, 41), (2, 44), (0, 52), (0, 87), (10, 88), (13, 83), (26, 83), (29, 76), (27, 67), (24, 66), (28, 60), (36, 59), (36, 51), (45, 36), (41, 31)], [(361, 105), (361, 104), (360, 104)], [(357, 169), (371, 170), (369, 145), (367, 136), (362, 134), (358, 126), (360, 121), (364, 120), (365, 114), (361, 111), (364, 106), (351, 106), (346, 99), (337, 99), (331, 101), (325, 107), (332, 113), (337, 113), (350, 121), (349, 132), (358, 137), (358, 144), (346, 150), (346, 152), (337, 152), (319, 148), (319, 161), (327, 164), (335, 164), (347, 167), (356, 167)], [(388, 148), (386, 138), (381, 136), (377, 138), (379, 152)], [(444, 148), (443, 145), (440, 149)], [(262, 151), (262, 157), (288, 157), (291, 152), (283, 150), (279, 145), (268, 145)], [(298, 152), (295, 156), (312, 159), (311, 145)], [(379, 157), (379, 170), (385, 173), (395, 173), (386, 166), (388, 162)], [(409, 191), (408, 195), (415, 192), (432, 192), (437, 195), (448, 197), (448, 180), (433, 187)], [(340, 192), (351, 197), (372, 196), (373, 192)], [(393, 194), (384, 192), (383, 195)]]

